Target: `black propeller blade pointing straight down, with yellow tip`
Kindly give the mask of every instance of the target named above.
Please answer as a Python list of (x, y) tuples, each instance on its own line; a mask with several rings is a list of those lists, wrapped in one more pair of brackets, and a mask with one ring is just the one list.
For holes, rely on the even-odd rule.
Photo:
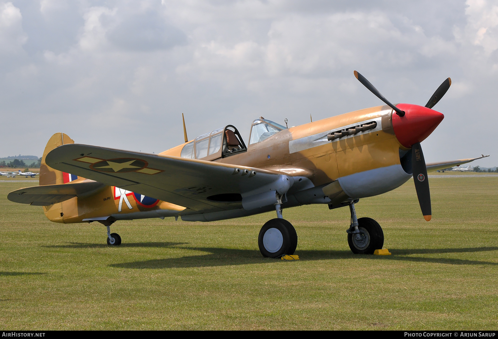
[(411, 146), (411, 164), (418, 203), (420, 204), (424, 219), (430, 221), (432, 218), (431, 193), (429, 191), (429, 180), (427, 178), (424, 153), (422, 153), (420, 142)]

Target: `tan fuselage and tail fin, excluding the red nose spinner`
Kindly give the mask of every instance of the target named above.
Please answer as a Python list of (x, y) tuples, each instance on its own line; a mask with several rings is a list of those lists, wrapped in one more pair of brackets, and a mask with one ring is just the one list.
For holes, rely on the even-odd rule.
[[(375, 121), (375, 128), (329, 141), (331, 131), (345, 130)], [(54, 139), (55, 137), (55, 139)], [(64, 143), (74, 143), (67, 135), (54, 135), (47, 144), (44, 156)], [(180, 157), (183, 143), (159, 155)], [(231, 156), (204, 160), (261, 168), (304, 177), (311, 183), (303, 192), (288, 197), (291, 207), (302, 204), (330, 204), (334, 199), (322, 189), (338, 182), (340, 200), (363, 198), (392, 190), (411, 177), (401, 166), (400, 155), (409, 148), (401, 145), (392, 125), (392, 110), (379, 106), (345, 113), (300, 126), (284, 129), (271, 137), (249, 144), (247, 151)], [(44, 159), (44, 157), (43, 157)], [(61, 184), (63, 173), (42, 162), (40, 185)], [(77, 177), (72, 182), (85, 182)], [(340, 191), (340, 192), (339, 192)], [(318, 194), (317, 194), (318, 193)], [(145, 203), (144, 203), (145, 199)], [(123, 189), (105, 186), (84, 197), (74, 197), (62, 203), (44, 207), (46, 217), (59, 223), (78, 223), (104, 220), (112, 216), (120, 219), (163, 218), (183, 215), (184, 207), (150, 197), (143, 197)], [(257, 213), (260, 213), (257, 212)], [(252, 213), (247, 213), (249, 215)], [(242, 216), (242, 215), (241, 215)], [(183, 216), (182, 216), (183, 219)], [(187, 219), (188, 220), (188, 219)]]

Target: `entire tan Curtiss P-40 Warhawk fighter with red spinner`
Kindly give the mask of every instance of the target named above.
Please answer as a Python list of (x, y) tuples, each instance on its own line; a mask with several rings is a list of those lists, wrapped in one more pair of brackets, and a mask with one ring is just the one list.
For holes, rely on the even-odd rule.
[(420, 142), (443, 120), (432, 107), (450, 78), (425, 107), (386, 100), (360, 73), (356, 78), (385, 105), (286, 128), (259, 117), (246, 145), (239, 130), (226, 125), (159, 154), (75, 144), (54, 134), (41, 161), (39, 186), (8, 194), (17, 203), (43, 206), (56, 223), (99, 222), (107, 243), (121, 244), (110, 226), (119, 220), (179, 217), (209, 222), (276, 211), (259, 232), (265, 257), (293, 254), (294, 227), (284, 208), (326, 204), (349, 207), (351, 250), (372, 254), (384, 235), (371, 218), (357, 218), (359, 199), (391, 191), (413, 177), (426, 221), (431, 220), (427, 170), (479, 158), (426, 164)]

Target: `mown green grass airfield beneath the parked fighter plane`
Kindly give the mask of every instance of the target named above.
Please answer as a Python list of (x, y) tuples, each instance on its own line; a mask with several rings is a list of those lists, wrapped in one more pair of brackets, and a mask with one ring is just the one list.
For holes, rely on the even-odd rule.
[(347, 208), (284, 210), (299, 261), (260, 255), (257, 234), (274, 213), (117, 222), (113, 247), (98, 223), (51, 223), (6, 199), (37, 180), (2, 181), (1, 327), (496, 330), (498, 177), (429, 180), (429, 223), (411, 180), (356, 205), (382, 226), (390, 256), (352, 254)]

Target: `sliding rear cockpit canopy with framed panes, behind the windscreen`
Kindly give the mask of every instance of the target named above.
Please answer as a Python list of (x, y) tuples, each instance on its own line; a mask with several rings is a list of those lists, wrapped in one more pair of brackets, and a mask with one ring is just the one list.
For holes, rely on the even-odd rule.
[(241, 134), (233, 125), (218, 128), (211, 133), (199, 135), (183, 146), (182, 158), (214, 160), (247, 151)]

